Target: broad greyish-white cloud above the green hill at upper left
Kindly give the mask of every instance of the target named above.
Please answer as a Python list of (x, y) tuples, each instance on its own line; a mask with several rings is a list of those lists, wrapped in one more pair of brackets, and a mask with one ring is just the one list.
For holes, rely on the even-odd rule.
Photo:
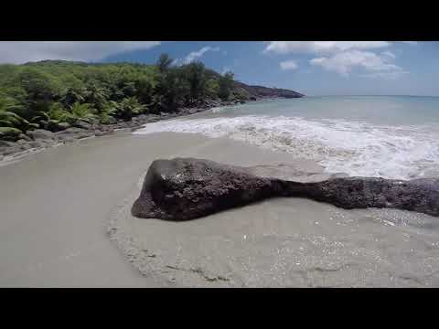
[(96, 61), (159, 44), (160, 41), (0, 41), (0, 62), (19, 64), (43, 59)]

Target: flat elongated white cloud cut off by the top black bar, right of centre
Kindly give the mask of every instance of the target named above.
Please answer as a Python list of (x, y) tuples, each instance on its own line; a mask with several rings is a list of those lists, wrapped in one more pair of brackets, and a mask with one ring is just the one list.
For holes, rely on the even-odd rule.
[(385, 48), (387, 41), (269, 41), (264, 52), (325, 54), (348, 49)]

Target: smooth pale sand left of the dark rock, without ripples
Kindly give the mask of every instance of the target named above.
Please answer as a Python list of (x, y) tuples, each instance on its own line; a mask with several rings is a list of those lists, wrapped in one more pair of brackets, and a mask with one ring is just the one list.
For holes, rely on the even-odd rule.
[(123, 260), (106, 226), (155, 157), (192, 144), (168, 142), (93, 138), (0, 166), (0, 286), (157, 286)]

